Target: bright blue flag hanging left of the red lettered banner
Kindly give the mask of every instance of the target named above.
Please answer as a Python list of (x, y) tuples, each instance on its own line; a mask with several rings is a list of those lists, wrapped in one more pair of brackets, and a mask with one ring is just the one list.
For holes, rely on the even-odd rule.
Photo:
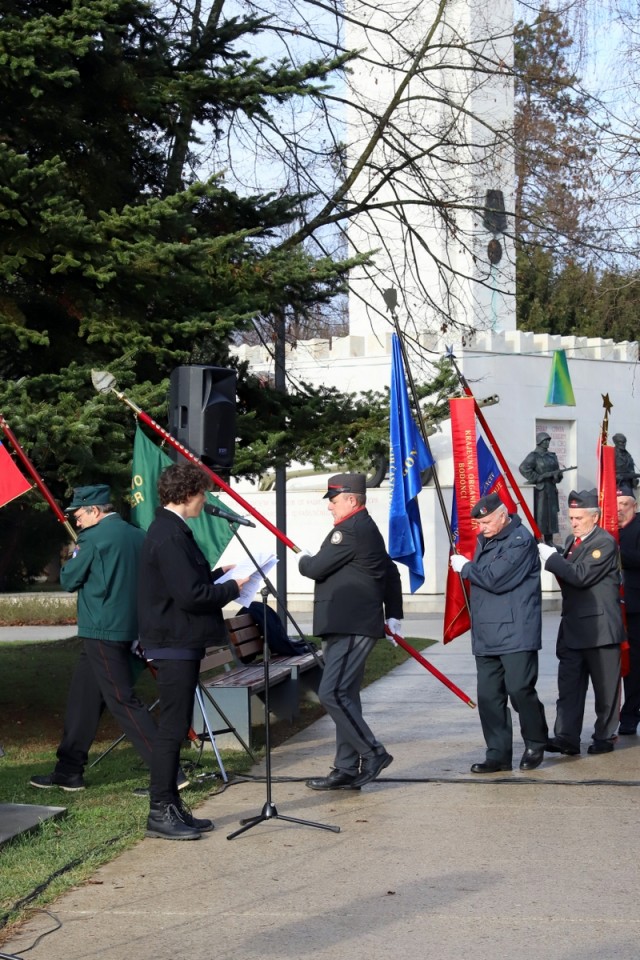
[(424, 583), (424, 537), (417, 496), (433, 457), (411, 416), (400, 341), (394, 333), (389, 397), (389, 556), (409, 568), (411, 593)]

